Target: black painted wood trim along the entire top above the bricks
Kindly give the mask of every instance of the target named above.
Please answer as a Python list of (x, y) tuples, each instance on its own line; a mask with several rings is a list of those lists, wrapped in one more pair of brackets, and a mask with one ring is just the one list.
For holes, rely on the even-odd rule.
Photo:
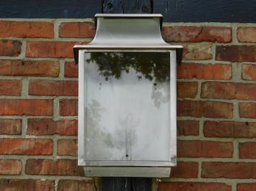
[[(117, 2), (105, 0), (105, 4), (110, 1)], [(124, 10), (120, 1), (115, 13)], [(142, 4), (151, 1), (144, 9), (133, 9), (131, 0), (123, 1), (125, 13), (149, 13), (154, 7), (164, 22), (256, 22), (256, 0), (141, 0)], [(102, 11), (102, 0), (1, 0), (0, 4), (0, 18), (92, 18)]]

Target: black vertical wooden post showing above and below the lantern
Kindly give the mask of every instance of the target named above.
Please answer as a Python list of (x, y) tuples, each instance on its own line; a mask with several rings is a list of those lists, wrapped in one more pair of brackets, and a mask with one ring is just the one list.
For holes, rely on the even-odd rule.
[[(153, 0), (102, 0), (102, 13), (150, 14)], [(151, 178), (102, 177), (101, 191), (151, 191)]]

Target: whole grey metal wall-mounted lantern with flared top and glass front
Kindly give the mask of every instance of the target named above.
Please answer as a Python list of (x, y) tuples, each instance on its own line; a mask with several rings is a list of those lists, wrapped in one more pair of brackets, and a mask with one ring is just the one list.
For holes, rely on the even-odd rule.
[(79, 156), (88, 177), (169, 177), (176, 165), (176, 63), (161, 14), (96, 14), (79, 62)]

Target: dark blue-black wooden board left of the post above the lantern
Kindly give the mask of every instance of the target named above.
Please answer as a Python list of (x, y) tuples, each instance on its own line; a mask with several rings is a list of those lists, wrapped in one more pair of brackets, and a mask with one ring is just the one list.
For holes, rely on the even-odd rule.
[(0, 18), (92, 18), (101, 0), (1, 0)]

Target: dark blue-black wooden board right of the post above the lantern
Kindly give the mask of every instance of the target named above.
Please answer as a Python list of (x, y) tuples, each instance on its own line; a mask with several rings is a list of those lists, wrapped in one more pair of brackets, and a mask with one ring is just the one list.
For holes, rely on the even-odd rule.
[(256, 0), (154, 0), (164, 22), (256, 22)]

